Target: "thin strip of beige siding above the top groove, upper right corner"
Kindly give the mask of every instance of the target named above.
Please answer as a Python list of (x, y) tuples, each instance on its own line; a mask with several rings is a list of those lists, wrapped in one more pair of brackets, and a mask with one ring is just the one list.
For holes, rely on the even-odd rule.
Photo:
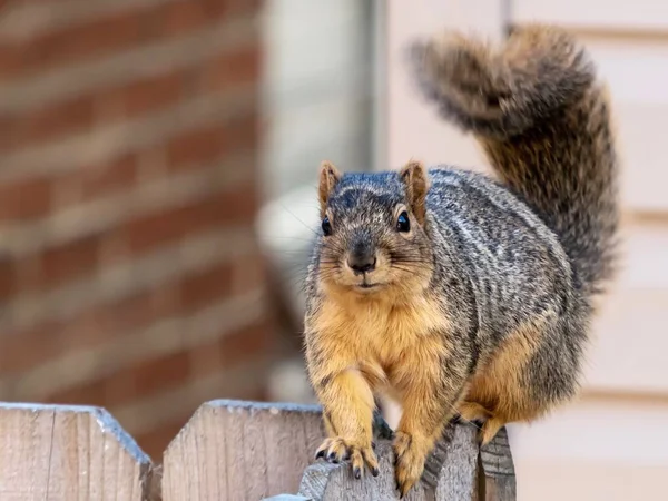
[(513, 23), (542, 21), (577, 28), (668, 30), (666, 0), (512, 0)]

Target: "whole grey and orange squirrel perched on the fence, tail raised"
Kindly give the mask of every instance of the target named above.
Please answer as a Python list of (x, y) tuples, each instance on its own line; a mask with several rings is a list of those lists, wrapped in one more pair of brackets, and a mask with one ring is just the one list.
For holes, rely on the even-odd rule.
[(411, 49), (418, 88), (497, 178), (324, 161), (304, 317), (327, 433), (316, 459), (377, 475), (374, 397), (386, 394), (403, 411), (401, 497), (451, 420), (482, 423), (485, 444), (577, 394), (619, 224), (608, 91), (573, 36), (534, 23), (499, 46), (448, 31)]

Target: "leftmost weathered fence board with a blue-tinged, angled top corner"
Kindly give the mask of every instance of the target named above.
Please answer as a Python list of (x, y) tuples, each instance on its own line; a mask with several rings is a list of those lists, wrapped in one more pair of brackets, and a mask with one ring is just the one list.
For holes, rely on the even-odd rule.
[(106, 411), (0, 403), (0, 500), (143, 501), (149, 458)]

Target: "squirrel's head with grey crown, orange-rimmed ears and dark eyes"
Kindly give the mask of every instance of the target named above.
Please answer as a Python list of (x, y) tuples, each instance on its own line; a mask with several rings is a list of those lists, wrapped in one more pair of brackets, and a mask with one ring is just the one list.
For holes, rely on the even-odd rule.
[(320, 173), (318, 277), (325, 289), (367, 297), (410, 297), (432, 275), (425, 233), (426, 169), (341, 174), (330, 163)]

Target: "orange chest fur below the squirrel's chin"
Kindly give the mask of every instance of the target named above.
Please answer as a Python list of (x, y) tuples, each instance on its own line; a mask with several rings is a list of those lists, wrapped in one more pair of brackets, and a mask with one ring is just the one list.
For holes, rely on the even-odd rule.
[(429, 353), (435, 355), (443, 344), (440, 334), (448, 327), (443, 307), (429, 297), (401, 306), (380, 301), (325, 301), (312, 322), (330, 356), (350, 360), (373, 379), (397, 365), (421, 363)]

